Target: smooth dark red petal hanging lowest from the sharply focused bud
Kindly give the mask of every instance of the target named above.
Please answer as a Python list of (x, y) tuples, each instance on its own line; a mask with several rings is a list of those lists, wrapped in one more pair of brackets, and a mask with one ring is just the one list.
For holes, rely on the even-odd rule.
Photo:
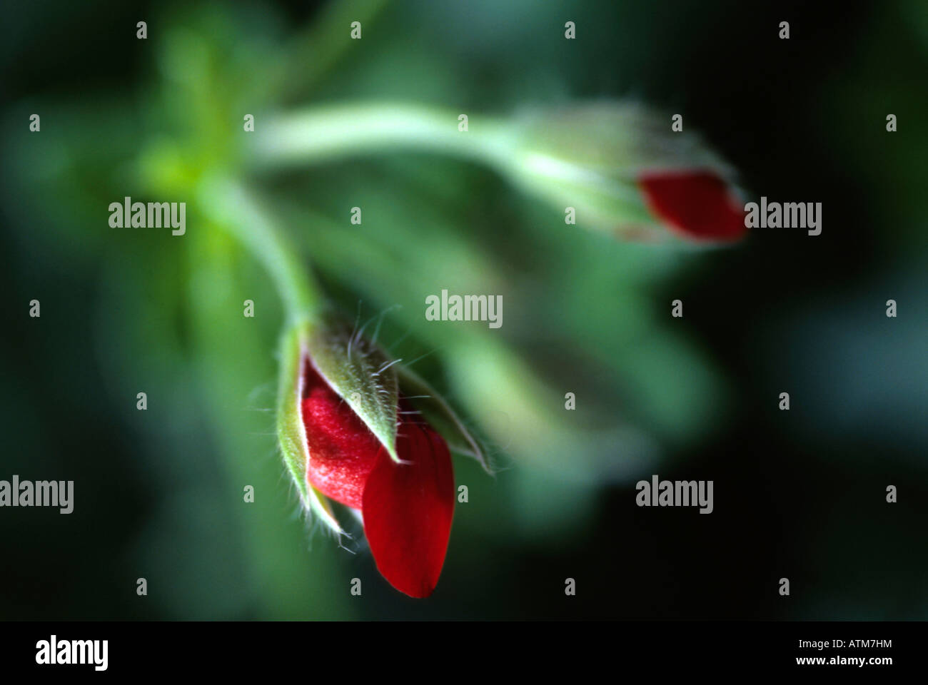
[(380, 574), (410, 597), (428, 597), (445, 563), (455, 511), (455, 475), (441, 435), (404, 421), (397, 464), (380, 450), (364, 490), (364, 530)]

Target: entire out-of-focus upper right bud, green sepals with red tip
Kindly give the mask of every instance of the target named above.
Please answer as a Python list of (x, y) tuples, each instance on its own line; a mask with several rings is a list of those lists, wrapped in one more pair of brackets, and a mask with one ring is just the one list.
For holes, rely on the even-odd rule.
[(504, 172), (526, 192), (562, 208), (580, 225), (624, 238), (669, 229), (689, 240), (744, 233), (743, 205), (728, 166), (671, 119), (638, 105), (604, 102), (525, 112)]

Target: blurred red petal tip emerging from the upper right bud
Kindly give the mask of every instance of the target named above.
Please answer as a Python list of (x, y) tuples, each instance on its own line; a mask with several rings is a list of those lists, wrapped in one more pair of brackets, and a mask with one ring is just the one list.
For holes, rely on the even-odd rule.
[(711, 172), (662, 172), (638, 178), (651, 212), (689, 239), (736, 240), (744, 210)]

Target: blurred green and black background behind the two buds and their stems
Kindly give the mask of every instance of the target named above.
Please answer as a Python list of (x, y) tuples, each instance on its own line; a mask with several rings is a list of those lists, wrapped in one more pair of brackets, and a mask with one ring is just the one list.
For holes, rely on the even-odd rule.
[[(75, 482), (70, 515), (0, 510), (0, 617), (928, 618), (922, 2), (34, 2), (0, 37), (0, 478)], [(244, 113), (599, 98), (683, 113), (752, 200), (821, 201), (821, 236), (626, 243), (470, 162), (252, 173), (241, 148)], [(498, 472), (456, 459), (470, 501), (428, 601), (299, 514), (281, 305), (198, 206), (204, 169), (246, 174), (331, 300), (389, 310), (380, 341), (485, 435)], [(187, 201), (187, 235), (110, 228), (125, 195)], [(426, 322), (443, 288), (503, 295), (503, 327)], [(639, 509), (651, 473), (714, 480), (715, 512)]]

